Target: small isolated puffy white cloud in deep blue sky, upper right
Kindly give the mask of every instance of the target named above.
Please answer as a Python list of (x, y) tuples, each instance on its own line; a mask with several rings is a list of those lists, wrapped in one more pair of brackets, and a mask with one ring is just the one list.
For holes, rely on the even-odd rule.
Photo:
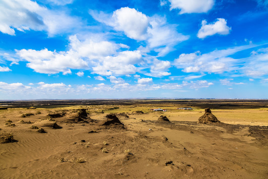
[(227, 21), (224, 18), (217, 18), (213, 23), (207, 24), (206, 20), (202, 20), (201, 29), (198, 31), (198, 38), (220, 34), (227, 35), (230, 33), (231, 27), (227, 26)]

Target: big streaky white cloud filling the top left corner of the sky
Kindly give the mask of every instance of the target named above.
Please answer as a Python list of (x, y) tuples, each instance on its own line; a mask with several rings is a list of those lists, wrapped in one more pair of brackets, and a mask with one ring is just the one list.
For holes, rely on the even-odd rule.
[[(57, 1), (57, 0), (53, 0)], [(68, 0), (65, 0), (67, 2)], [(0, 1), (0, 32), (15, 35), (15, 30), (47, 31), (50, 36), (71, 31), (81, 25), (81, 20), (64, 11), (50, 10), (31, 0)]]

